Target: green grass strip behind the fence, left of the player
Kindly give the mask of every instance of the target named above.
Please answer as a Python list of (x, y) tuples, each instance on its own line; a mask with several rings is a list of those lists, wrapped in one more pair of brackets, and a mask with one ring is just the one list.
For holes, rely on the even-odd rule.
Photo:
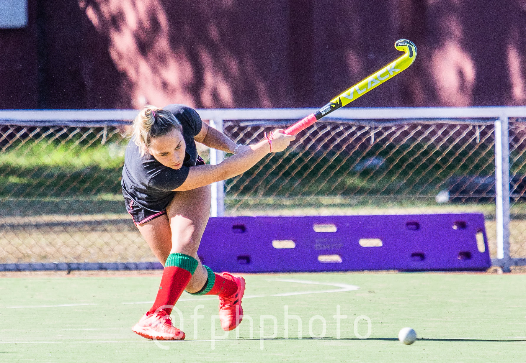
[(46, 198), (120, 192), (124, 147), (25, 143), (0, 154), (0, 196)]

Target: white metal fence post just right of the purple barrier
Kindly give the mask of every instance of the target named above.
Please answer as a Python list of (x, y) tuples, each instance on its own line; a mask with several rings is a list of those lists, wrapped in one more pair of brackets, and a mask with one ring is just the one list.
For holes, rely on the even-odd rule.
[(510, 145), (508, 117), (495, 120), (495, 219), (497, 264), (510, 271)]

